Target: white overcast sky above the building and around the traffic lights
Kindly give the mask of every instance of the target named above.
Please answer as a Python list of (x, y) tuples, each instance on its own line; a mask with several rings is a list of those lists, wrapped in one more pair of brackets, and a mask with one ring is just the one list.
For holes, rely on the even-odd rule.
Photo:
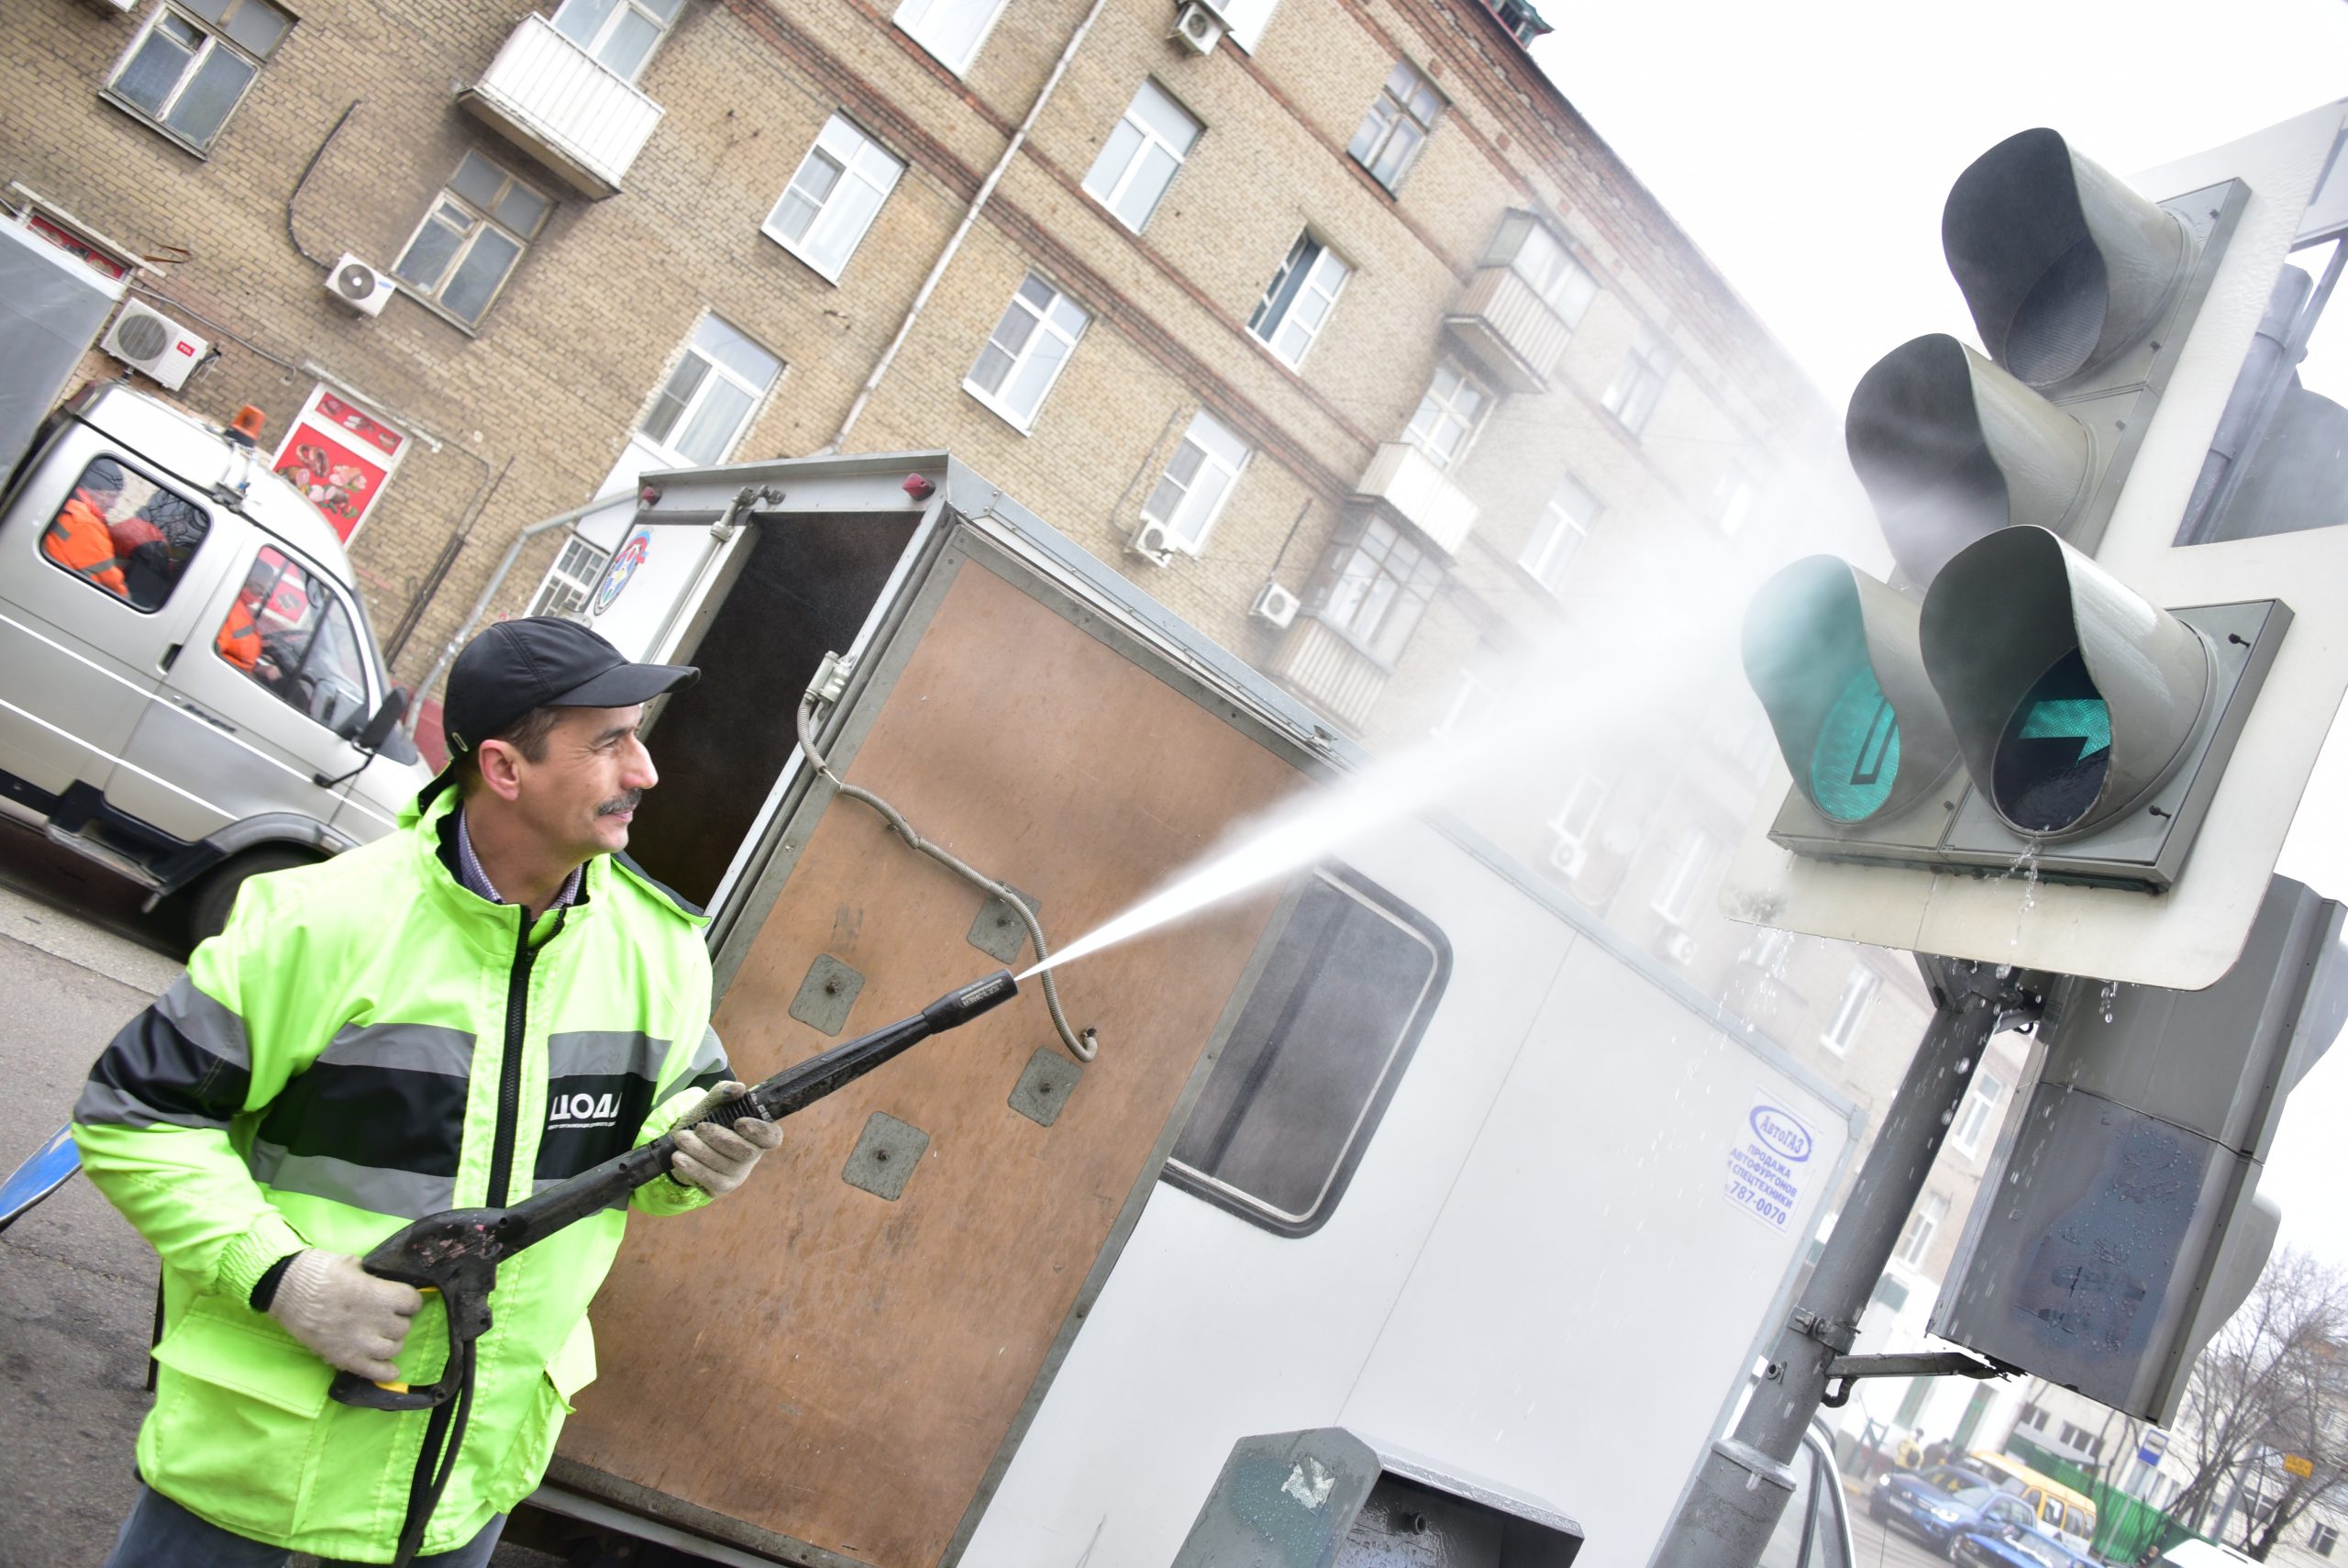
[[(1543, 0), (1543, 14), (1557, 33), (1533, 59), (1836, 408), (1907, 338), (1979, 340), (1939, 207), (2005, 136), (2047, 124), (2132, 174), (2348, 94), (2343, 0)], [(2308, 798), (2343, 793), (2336, 732)], [(2282, 871), (2348, 897), (2348, 836), (2294, 833)], [(2348, 1047), (2292, 1099), (2261, 1190), (2287, 1244), (2348, 1268), (2343, 1127)]]

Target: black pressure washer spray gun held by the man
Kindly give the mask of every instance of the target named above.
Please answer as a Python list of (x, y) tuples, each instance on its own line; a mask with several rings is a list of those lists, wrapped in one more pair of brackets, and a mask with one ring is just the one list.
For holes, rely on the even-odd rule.
[[(432, 1514), (432, 1505), (439, 1500), (439, 1491), (456, 1467), (456, 1448), (465, 1437), (465, 1406), (472, 1404), (474, 1343), (488, 1333), (488, 1293), (498, 1284), (500, 1263), (524, 1246), (545, 1242), (564, 1225), (627, 1202), (629, 1192), (664, 1176), (676, 1153), (674, 1134), (679, 1129), (697, 1127), (700, 1122), (733, 1127), (742, 1117), (780, 1122), (834, 1089), (864, 1077), (930, 1035), (960, 1028), (1014, 995), (1019, 995), (1019, 981), (1012, 979), (1010, 969), (996, 969), (981, 981), (942, 995), (911, 1019), (899, 1019), (848, 1045), (836, 1045), (822, 1056), (810, 1056), (798, 1066), (784, 1068), (733, 1099), (704, 1101), (650, 1143), (615, 1155), (510, 1209), (448, 1209), (446, 1214), (430, 1214), (392, 1232), (366, 1253), (362, 1263), (369, 1275), (397, 1279), (418, 1291), (439, 1291), (441, 1305), (448, 1307), (448, 1359), (441, 1364), (434, 1383), (369, 1383), (355, 1373), (336, 1373), (333, 1378), (333, 1397), (343, 1404), (369, 1411), (432, 1411), (425, 1448), (437, 1448), (439, 1476), (427, 1486), (418, 1486), (418, 1493), (409, 1498), (399, 1561), (409, 1561), (416, 1552), (425, 1519)], [(451, 1401), (456, 1401), (453, 1411)], [(446, 1441), (441, 1441), (444, 1437)], [(423, 1476), (423, 1467), (418, 1476)]]

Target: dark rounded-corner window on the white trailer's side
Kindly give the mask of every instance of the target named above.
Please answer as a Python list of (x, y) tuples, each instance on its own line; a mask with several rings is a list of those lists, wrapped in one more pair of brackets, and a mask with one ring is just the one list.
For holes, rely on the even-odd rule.
[(1317, 1230), (1425, 1033), (1451, 953), (1350, 871), (1291, 890), (1167, 1178), (1244, 1218)]

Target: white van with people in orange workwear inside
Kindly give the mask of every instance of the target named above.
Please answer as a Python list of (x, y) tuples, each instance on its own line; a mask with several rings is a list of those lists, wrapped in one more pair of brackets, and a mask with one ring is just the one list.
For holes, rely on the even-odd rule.
[(430, 777), (326, 519), (249, 437), (129, 387), (0, 493), (0, 810), (195, 937), (254, 873), (387, 833)]

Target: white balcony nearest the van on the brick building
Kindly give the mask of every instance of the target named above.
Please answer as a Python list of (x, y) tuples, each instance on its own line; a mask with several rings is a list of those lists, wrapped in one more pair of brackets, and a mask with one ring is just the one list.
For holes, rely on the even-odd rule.
[(660, 124), (660, 106), (599, 66), (545, 16), (524, 16), (458, 108), (514, 141), (582, 197), (620, 181)]

